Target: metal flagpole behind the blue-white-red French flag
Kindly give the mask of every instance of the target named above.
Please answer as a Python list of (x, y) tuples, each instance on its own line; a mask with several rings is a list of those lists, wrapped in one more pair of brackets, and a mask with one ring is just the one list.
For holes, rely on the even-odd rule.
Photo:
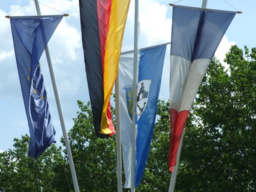
[[(202, 8), (206, 8), (207, 6), (207, 0), (203, 0), (202, 2)], [(176, 160), (176, 166), (174, 166), (174, 171), (172, 173), (171, 176), (171, 180), (170, 180), (170, 185), (169, 185), (169, 192), (174, 192), (174, 188), (175, 188), (175, 181), (176, 181), (176, 176), (177, 176), (177, 170), (178, 170), (178, 166), (179, 166), (179, 160), (180, 160), (180, 153), (181, 153), (181, 146), (182, 146), (182, 141), (183, 141), (183, 136), (184, 136), (184, 132), (185, 132), (185, 128), (183, 130), (182, 133), (182, 137), (181, 137), (181, 141), (180, 141), (180, 145), (178, 147), (178, 151), (177, 151), (177, 160)]]

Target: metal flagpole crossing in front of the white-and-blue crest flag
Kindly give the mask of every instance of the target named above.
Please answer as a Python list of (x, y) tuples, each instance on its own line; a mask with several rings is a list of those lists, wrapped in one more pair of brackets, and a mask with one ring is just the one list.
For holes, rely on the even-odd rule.
[(139, 0), (135, 0), (134, 15), (134, 79), (132, 99), (132, 136), (131, 136), (131, 192), (135, 192), (135, 169), (136, 169), (136, 105), (137, 105), (137, 79), (138, 79), (138, 31), (139, 29)]

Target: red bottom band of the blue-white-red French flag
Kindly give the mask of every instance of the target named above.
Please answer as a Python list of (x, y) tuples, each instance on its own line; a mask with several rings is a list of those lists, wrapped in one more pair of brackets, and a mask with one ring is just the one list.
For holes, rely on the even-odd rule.
[(177, 160), (177, 151), (180, 145), (180, 140), (184, 127), (186, 125), (186, 120), (188, 119), (189, 111), (180, 111), (178, 113), (175, 109), (170, 109), (171, 117), (171, 135), (170, 135), (170, 148), (169, 148), (169, 158), (168, 167), (169, 171), (173, 172), (174, 166)]

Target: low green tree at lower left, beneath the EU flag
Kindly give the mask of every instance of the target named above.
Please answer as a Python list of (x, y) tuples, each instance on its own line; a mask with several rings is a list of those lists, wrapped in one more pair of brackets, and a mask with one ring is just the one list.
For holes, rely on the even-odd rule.
[(39, 157), (33, 158), (28, 156), (28, 135), (15, 138), (14, 142), (14, 149), (0, 153), (1, 192), (69, 191), (61, 147), (51, 145)]

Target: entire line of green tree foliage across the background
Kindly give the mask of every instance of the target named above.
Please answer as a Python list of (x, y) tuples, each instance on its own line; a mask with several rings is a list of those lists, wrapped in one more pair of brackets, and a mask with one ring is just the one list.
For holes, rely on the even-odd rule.
[[(233, 46), (225, 62), (228, 69), (212, 60), (186, 123), (177, 192), (256, 190), (256, 48)], [(117, 191), (116, 138), (97, 138), (90, 103), (78, 105), (68, 136), (80, 191)], [(169, 102), (158, 102), (157, 116), (138, 192), (169, 188)], [(73, 191), (66, 151), (51, 145), (34, 159), (27, 155), (28, 145), (25, 135), (15, 139), (13, 149), (0, 153), (0, 191)]]

